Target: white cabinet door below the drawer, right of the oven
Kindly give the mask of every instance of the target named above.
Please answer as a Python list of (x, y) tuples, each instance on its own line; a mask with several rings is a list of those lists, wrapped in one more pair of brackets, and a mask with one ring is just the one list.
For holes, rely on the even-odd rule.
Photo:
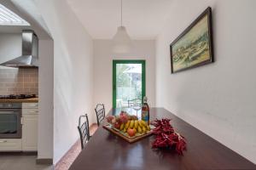
[(38, 115), (22, 116), (22, 150), (38, 150)]

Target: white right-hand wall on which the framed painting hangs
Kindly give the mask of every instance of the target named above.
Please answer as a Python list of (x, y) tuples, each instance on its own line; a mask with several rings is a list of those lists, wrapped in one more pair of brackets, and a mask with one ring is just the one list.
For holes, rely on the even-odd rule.
[[(212, 7), (216, 62), (171, 74), (170, 43), (207, 6)], [(174, 0), (156, 41), (156, 104), (254, 163), (255, 7), (253, 0)]]

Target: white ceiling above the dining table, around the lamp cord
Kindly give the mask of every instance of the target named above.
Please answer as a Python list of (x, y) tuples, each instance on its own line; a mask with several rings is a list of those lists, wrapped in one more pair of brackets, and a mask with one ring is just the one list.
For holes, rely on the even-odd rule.
[[(94, 39), (110, 39), (120, 25), (120, 0), (67, 0)], [(170, 17), (172, 0), (123, 0), (123, 25), (133, 39), (154, 39)]]

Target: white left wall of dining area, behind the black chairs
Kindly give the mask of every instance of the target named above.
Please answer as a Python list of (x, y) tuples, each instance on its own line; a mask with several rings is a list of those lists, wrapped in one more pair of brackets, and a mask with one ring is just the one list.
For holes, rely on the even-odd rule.
[(92, 122), (93, 43), (66, 1), (37, 0), (36, 3), (54, 39), (56, 162), (79, 139), (79, 116), (88, 113)]

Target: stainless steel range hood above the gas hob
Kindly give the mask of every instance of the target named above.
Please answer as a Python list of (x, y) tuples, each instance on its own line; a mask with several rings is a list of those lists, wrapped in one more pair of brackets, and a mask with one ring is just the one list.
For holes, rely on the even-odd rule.
[(38, 37), (31, 30), (22, 31), (22, 54), (20, 57), (6, 61), (0, 65), (15, 68), (38, 67)]

